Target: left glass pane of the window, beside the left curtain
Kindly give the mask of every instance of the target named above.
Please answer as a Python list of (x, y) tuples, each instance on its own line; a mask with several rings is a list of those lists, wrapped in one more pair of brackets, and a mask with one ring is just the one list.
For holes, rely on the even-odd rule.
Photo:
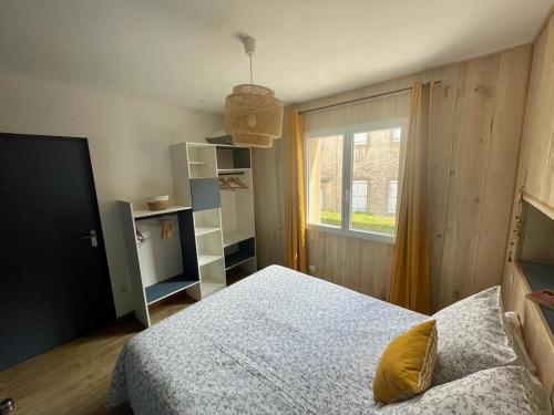
[(308, 139), (308, 222), (342, 225), (342, 135)]

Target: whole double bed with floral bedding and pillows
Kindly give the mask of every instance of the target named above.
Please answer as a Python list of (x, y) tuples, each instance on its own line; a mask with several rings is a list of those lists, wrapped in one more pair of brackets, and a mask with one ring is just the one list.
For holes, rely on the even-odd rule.
[[(504, 313), (510, 299), (530, 305), (514, 281), (504, 301), (491, 287), (429, 318), (268, 267), (134, 336), (107, 404), (130, 404), (135, 415), (550, 415), (552, 333), (531, 309)], [(419, 361), (417, 387), (427, 386), (379, 397), (376, 370), (377, 391), (403, 384), (416, 343), (404, 342), (384, 366), (381, 355), (422, 326), (438, 333)], [(428, 353), (434, 364), (424, 364)]]

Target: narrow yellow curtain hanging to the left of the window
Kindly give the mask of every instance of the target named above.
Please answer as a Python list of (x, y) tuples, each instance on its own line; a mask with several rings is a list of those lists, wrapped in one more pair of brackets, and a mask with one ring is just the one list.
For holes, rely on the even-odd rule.
[(286, 247), (285, 264), (306, 272), (306, 216), (304, 201), (304, 115), (287, 111)]

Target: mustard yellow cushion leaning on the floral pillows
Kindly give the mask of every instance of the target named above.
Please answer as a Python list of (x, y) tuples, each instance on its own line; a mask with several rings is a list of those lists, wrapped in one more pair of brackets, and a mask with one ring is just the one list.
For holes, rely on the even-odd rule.
[(373, 380), (376, 401), (403, 401), (429, 387), (437, 361), (434, 322), (428, 320), (412, 326), (384, 349)]

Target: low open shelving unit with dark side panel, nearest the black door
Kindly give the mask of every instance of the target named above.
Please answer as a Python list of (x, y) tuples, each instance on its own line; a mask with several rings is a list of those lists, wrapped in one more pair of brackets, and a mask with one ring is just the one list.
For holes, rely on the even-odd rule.
[[(177, 292), (199, 286), (192, 208), (134, 210), (119, 200), (136, 319), (150, 326), (148, 308)], [(172, 238), (162, 238), (161, 219), (172, 221)], [(144, 241), (137, 240), (137, 231)], [(220, 258), (220, 256), (219, 256)]]

